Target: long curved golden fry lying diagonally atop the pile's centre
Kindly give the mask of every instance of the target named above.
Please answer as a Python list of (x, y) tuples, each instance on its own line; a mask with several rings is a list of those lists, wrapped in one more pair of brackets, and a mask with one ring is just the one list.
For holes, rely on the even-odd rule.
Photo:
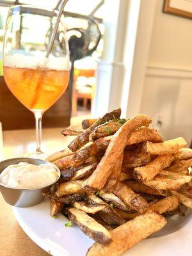
[(122, 154), (127, 143), (125, 137), (129, 138), (132, 131), (143, 125), (149, 125), (152, 120), (147, 115), (136, 115), (129, 119), (116, 132), (113, 139), (110, 141), (106, 153), (97, 165), (97, 168), (92, 175), (84, 181), (83, 188), (90, 191), (97, 191), (104, 187), (108, 177), (111, 175), (113, 166)]

